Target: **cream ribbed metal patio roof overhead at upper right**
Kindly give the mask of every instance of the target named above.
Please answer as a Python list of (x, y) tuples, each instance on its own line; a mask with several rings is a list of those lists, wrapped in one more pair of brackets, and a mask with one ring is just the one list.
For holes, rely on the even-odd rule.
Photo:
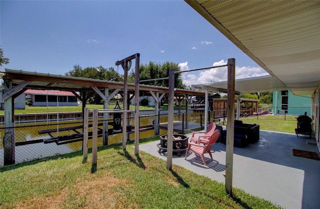
[(320, 86), (319, 0), (185, 1), (293, 94)]

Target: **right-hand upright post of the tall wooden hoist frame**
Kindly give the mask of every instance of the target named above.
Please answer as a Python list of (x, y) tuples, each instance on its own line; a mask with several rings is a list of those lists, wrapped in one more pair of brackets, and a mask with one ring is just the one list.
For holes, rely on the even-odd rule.
[(140, 79), (140, 54), (135, 54), (135, 86), (134, 86), (134, 154), (139, 154), (139, 79)]

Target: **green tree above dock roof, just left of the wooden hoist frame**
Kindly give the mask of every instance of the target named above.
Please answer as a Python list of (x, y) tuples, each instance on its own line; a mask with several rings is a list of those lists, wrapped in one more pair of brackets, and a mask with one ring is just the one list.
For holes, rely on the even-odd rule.
[[(73, 69), (65, 73), (67, 76), (73, 77), (82, 77), (82, 78), (92, 78), (99, 80), (108, 80), (108, 81), (122, 81), (123, 75), (119, 75), (113, 67), (108, 69), (98, 66), (98, 67), (86, 67), (82, 69), (80, 65), (73, 65)], [(90, 104), (102, 104), (102, 99), (98, 94), (94, 94), (89, 99)]]

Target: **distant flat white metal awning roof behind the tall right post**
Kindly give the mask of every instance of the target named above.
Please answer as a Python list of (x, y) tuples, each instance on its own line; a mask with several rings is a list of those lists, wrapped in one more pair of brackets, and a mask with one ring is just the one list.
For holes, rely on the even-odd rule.
[[(216, 91), (227, 93), (227, 81), (216, 83), (198, 84), (193, 86), (196, 89)], [(252, 91), (254, 89), (254, 91)], [(275, 90), (287, 90), (286, 86), (277, 78), (270, 75), (242, 78), (235, 80), (235, 94), (251, 93), (251, 92), (266, 92)]]

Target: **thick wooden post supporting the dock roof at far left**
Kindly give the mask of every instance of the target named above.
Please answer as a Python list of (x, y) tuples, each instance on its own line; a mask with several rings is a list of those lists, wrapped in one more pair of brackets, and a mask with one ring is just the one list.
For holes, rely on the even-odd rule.
[[(4, 80), (4, 91), (12, 88), (11, 80)], [(4, 137), (3, 154), (4, 165), (15, 164), (15, 139), (14, 139), (14, 99), (12, 96), (4, 100)]]

